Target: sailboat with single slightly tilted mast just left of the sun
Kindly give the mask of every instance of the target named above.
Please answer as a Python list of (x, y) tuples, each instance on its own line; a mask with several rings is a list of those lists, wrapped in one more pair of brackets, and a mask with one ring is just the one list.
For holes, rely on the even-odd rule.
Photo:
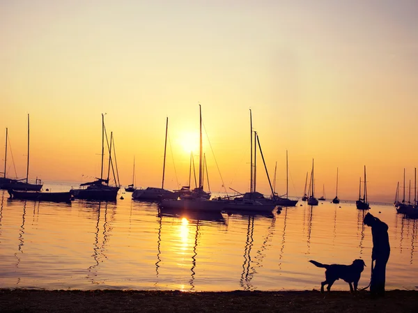
[(132, 193), (132, 199), (139, 201), (160, 201), (162, 199), (173, 199), (178, 198), (178, 192), (172, 192), (164, 189), (164, 174), (165, 174), (165, 161), (167, 153), (167, 133), (169, 130), (169, 118), (166, 120), (166, 135), (164, 144), (164, 162), (162, 165), (162, 183), (161, 188), (147, 187), (145, 189), (137, 189)]

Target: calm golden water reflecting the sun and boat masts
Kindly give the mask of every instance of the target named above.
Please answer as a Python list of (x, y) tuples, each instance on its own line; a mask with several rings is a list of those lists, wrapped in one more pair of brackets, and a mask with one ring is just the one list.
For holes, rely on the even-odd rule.
[[(351, 264), (358, 258), (367, 265), (359, 287), (369, 284), (371, 229), (355, 204), (300, 202), (272, 215), (178, 216), (123, 196), (115, 203), (52, 204), (9, 200), (0, 190), (0, 287), (319, 289), (324, 270), (309, 259)], [(393, 206), (371, 207), (389, 225), (387, 289), (417, 289), (417, 220)], [(337, 281), (332, 289), (348, 290), (348, 284)]]

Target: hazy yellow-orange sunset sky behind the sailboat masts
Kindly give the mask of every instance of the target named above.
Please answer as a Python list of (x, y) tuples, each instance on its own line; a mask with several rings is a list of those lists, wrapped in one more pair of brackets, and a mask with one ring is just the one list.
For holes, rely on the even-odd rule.
[[(245, 192), (251, 109), (279, 194), (288, 150), (291, 196), (314, 159), (318, 196), (334, 197), (338, 167), (339, 197), (355, 199), (366, 165), (369, 200), (393, 201), (418, 165), (417, 15), (415, 0), (3, 0), (0, 142), (8, 128), (26, 176), (30, 114), (29, 178), (88, 181), (106, 113), (121, 183), (135, 158), (136, 185), (159, 187), (168, 117), (176, 189), (191, 149), (199, 163), (200, 104), (210, 190)], [(260, 155), (257, 189), (270, 194)]]

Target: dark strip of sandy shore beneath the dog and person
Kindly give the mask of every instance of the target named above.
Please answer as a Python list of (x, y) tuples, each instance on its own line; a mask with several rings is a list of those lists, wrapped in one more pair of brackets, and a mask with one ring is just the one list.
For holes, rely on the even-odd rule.
[(418, 312), (418, 291), (45, 291), (0, 289), (0, 312)]

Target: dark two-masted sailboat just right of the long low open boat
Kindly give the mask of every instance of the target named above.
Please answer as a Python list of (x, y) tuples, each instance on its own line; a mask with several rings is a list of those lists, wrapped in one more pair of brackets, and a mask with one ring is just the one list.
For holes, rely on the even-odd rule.
[[(107, 169), (107, 178), (103, 178), (103, 169), (104, 169), (104, 136), (106, 136), (107, 141), (107, 132), (106, 128), (104, 127), (104, 114), (102, 114), (102, 166), (100, 170), (100, 178), (96, 178), (95, 181), (91, 181), (88, 183), (80, 184), (80, 189), (73, 189), (71, 190), (72, 194), (75, 198), (78, 199), (87, 199), (87, 200), (103, 200), (103, 201), (115, 201), (118, 195), (118, 191), (120, 188), (120, 184), (118, 183), (118, 179), (116, 180), (116, 175), (114, 171), (114, 165), (111, 158), (112, 152), (116, 155), (114, 151), (114, 145), (112, 150), (112, 144), (114, 142), (113, 133), (111, 132), (110, 135), (110, 143), (107, 141), (107, 146), (109, 148), (109, 165)], [(118, 174), (118, 167), (115, 160), (115, 167), (116, 167), (116, 174)], [(110, 169), (114, 174), (114, 181), (116, 182), (116, 186), (109, 185), (109, 176), (110, 176)]]

